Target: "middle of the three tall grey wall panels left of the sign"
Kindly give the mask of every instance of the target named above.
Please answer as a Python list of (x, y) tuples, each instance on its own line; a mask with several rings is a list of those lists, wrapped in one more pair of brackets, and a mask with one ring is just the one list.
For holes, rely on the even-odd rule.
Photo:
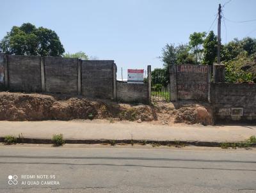
[(45, 91), (77, 94), (77, 58), (44, 57)]

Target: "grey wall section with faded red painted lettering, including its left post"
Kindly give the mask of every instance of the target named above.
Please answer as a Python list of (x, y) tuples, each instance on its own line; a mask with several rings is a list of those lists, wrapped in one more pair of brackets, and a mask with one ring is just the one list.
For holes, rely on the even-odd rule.
[(211, 66), (172, 65), (170, 70), (171, 100), (209, 100)]

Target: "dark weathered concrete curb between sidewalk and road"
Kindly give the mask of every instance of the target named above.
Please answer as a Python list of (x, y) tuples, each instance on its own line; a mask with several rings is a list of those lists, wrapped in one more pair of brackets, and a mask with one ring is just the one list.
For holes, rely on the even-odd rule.
[[(157, 140), (132, 140), (132, 139), (65, 139), (67, 144), (159, 144), (159, 145), (193, 145), (193, 146), (207, 146), (207, 147), (220, 147), (221, 143), (233, 144), (241, 143), (243, 141), (223, 141), (223, 142), (212, 142), (212, 141), (157, 141)], [(0, 137), (0, 143), (4, 143), (4, 137)], [(30, 143), (30, 144), (52, 144), (51, 139), (40, 139), (40, 138), (17, 138), (17, 143)]]

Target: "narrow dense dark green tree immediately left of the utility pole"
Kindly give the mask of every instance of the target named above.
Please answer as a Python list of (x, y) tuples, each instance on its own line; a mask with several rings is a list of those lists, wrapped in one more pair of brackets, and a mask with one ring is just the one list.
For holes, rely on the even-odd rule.
[(216, 61), (218, 41), (217, 36), (213, 31), (210, 31), (209, 35), (205, 38), (204, 43), (204, 59), (202, 63), (204, 65), (213, 65)]

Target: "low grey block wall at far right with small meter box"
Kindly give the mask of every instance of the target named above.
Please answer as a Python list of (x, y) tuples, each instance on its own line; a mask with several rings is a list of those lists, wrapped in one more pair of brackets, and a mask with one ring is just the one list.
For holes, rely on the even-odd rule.
[(212, 83), (211, 106), (216, 123), (256, 123), (256, 84)]

